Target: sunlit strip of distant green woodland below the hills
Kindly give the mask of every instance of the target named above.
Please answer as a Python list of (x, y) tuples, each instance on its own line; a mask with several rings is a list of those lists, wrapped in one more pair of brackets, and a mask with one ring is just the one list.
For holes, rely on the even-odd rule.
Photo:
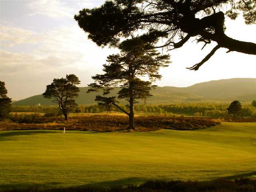
[[(184, 114), (192, 116), (208, 116), (208, 117), (228, 117), (226, 110), (229, 103), (180, 103), (168, 105), (136, 105), (135, 112), (152, 112), (154, 114)], [(126, 108), (126, 106), (121, 106)], [(114, 112), (120, 112), (116, 107), (110, 109)], [(12, 106), (11, 112), (40, 112), (59, 114), (58, 106)], [(103, 106), (98, 105), (79, 105), (74, 113), (102, 113), (106, 112)], [(240, 112), (241, 117), (256, 116), (256, 107), (251, 104), (242, 104)]]

